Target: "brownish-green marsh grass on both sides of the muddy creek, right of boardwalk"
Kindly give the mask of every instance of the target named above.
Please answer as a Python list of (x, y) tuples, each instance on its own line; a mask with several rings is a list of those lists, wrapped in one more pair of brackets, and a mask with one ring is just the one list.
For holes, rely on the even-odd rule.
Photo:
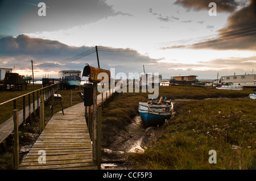
[[(176, 115), (144, 153), (128, 159), (135, 169), (255, 169), (256, 102), (248, 98), (253, 91), (160, 87), (159, 96), (174, 100)], [(125, 93), (104, 109), (103, 147), (122, 136), (141, 100), (148, 100), (147, 93)], [(210, 150), (216, 150), (216, 164), (208, 162)]]

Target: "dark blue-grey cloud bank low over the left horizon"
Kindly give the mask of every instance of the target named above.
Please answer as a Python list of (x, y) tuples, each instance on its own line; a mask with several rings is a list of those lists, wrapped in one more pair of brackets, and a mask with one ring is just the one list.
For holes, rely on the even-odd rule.
[[(15, 64), (17, 64), (16, 67), (18, 69), (24, 67), (19, 62), (33, 60), (35, 62), (35, 69), (39, 68), (46, 71), (59, 71), (63, 69), (82, 70), (85, 63), (97, 66), (96, 53), (81, 57), (79, 60), (68, 62), (67, 64), (59, 64), (58, 62), (77, 56), (92, 48), (94, 47), (72, 47), (59, 41), (31, 38), (26, 35), (2, 37), (0, 39), (0, 66), (16, 66)], [(126, 72), (132, 72), (138, 66), (142, 67), (143, 64), (154, 64), (158, 61), (154, 58), (143, 56), (138, 52), (99, 51), (98, 54), (102, 68), (114, 68), (121, 65), (122, 71)]]

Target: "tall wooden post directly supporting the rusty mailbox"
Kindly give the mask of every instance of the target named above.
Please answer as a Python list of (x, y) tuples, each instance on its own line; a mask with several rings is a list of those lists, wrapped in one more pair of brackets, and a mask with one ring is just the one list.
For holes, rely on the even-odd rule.
[(93, 162), (97, 163), (97, 83), (93, 83), (93, 115), (92, 115)]

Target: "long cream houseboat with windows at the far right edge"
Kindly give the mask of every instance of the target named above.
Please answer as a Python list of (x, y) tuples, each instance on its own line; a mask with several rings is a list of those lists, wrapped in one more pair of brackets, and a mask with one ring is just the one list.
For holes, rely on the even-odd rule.
[(220, 82), (229, 83), (234, 85), (240, 85), (243, 87), (256, 87), (256, 74), (244, 74), (244, 75), (228, 75), (222, 76)]

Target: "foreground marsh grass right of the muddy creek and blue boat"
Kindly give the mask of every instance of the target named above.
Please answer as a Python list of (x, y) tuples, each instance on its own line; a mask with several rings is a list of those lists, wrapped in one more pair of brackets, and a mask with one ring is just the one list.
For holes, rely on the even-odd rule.
[(163, 136), (130, 158), (139, 169), (255, 169), (255, 107), (250, 99), (179, 102)]

